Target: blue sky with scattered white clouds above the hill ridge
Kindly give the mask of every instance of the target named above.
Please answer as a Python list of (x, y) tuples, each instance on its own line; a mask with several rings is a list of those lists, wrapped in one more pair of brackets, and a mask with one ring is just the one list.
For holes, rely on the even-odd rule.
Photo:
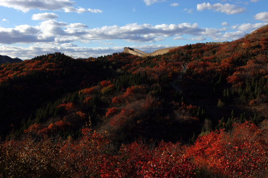
[(98, 57), (244, 37), (268, 0), (0, 0), (0, 55)]

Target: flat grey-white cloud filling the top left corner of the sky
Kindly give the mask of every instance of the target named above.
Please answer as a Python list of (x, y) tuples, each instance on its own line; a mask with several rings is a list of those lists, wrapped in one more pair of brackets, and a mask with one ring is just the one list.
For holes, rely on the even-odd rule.
[(84, 9), (74, 8), (75, 2), (72, 0), (0, 0), (0, 6), (14, 8), (23, 12), (28, 12), (31, 9), (40, 10), (65, 10), (65, 12), (102, 12), (99, 9)]

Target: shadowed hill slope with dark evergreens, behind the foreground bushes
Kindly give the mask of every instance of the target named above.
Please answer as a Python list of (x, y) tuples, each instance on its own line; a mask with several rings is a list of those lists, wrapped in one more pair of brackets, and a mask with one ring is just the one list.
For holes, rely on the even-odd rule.
[(2, 65), (0, 133), (79, 136), (90, 125), (120, 145), (138, 137), (188, 142), (236, 122), (259, 124), (268, 116), (267, 56), (264, 27), (164, 55), (55, 53)]

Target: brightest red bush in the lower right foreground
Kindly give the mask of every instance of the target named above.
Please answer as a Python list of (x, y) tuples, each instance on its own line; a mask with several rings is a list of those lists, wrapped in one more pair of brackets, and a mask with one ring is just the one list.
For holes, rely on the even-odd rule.
[(264, 132), (253, 124), (235, 124), (232, 132), (221, 130), (199, 137), (187, 153), (193, 163), (215, 174), (241, 178), (260, 176), (268, 165)]

